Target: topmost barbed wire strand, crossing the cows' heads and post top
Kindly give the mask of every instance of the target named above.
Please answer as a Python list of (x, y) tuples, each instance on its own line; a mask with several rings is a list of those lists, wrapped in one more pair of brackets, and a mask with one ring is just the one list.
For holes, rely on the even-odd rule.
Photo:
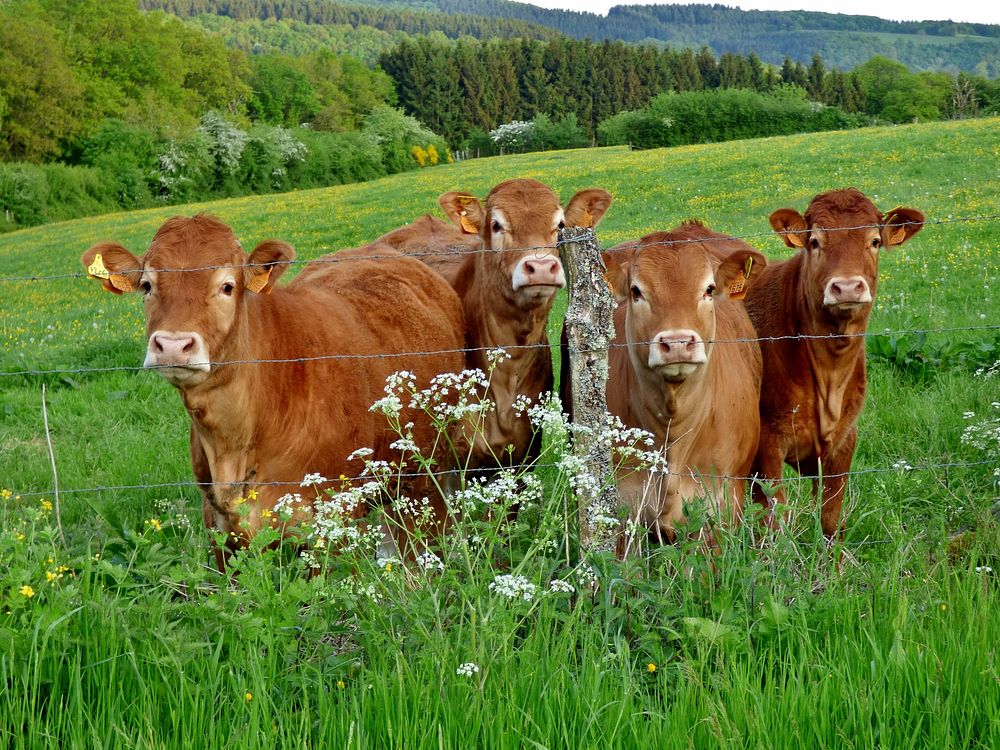
[[(845, 227), (823, 227), (824, 232), (849, 232), (856, 231), (859, 229), (879, 229), (883, 226), (892, 227), (905, 227), (905, 226), (939, 226), (944, 224), (961, 224), (961, 223), (972, 223), (972, 222), (986, 222), (986, 221), (997, 221), (1000, 220), (1000, 214), (984, 214), (979, 216), (962, 216), (962, 217), (952, 217), (947, 219), (934, 219), (924, 222), (892, 222), (889, 224), (859, 224), (853, 226)], [(705, 227), (706, 229), (712, 230), (711, 227)], [(666, 230), (668, 233), (673, 230)], [(640, 240), (627, 240), (622, 243), (618, 243), (612, 247), (603, 248), (604, 250), (611, 250), (613, 247), (621, 247), (622, 245), (627, 245), (629, 247), (635, 247), (637, 249), (645, 247), (668, 247), (672, 245), (685, 245), (685, 244), (711, 244), (714, 242), (731, 242), (732, 240), (740, 240), (746, 242), (748, 239), (758, 239), (762, 237), (772, 237), (774, 235), (789, 235), (789, 234), (803, 234), (804, 231), (785, 231), (785, 232), (775, 232), (775, 231), (763, 231), (763, 232), (753, 232), (750, 234), (744, 234), (741, 236), (736, 235), (726, 235), (719, 233), (721, 236), (718, 237), (696, 237), (696, 238), (678, 238), (678, 239), (667, 239), (667, 240), (657, 240), (643, 243)], [(468, 235), (474, 237), (476, 235)], [(553, 251), (558, 251), (564, 245), (579, 242), (579, 239), (574, 240), (564, 240), (559, 239), (554, 245), (533, 245), (530, 247), (516, 248), (517, 252), (536, 252), (539, 254), (549, 254)], [(379, 240), (375, 240), (366, 245), (361, 245), (358, 248), (342, 248), (342, 250), (363, 250), (366, 247), (373, 247), (378, 245)], [(321, 245), (318, 249), (327, 250), (328, 246)], [(404, 257), (410, 258), (442, 258), (442, 257), (463, 257), (466, 255), (476, 255), (479, 253), (493, 252), (492, 249), (486, 249), (484, 247), (465, 247), (459, 244), (448, 245), (436, 250), (425, 250), (425, 251), (398, 251)], [(249, 257), (249, 256), (248, 256)], [(349, 253), (341, 255), (339, 250), (334, 250), (334, 252), (322, 255), (317, 258), (306, 259), (306, 258), (296, 258), (292, 260), (281, 260), (273, 261), (267, 263), (245, 263), (241, 267), (243, 268), (267, 268), (275, 266), (306, 266), (306, 265), (323, 265), (323, 264), (333, 264), (333, 263), (349, 263), (351, 261), (358, 260), (382, 260), (386, 258), (398, 258), (395, 252), (393, 254), (378, 253), (374, 250), (371, 254), (360, 255), (357, 253)], [(157, 273), (194, 273), (198, 271), (214, 271), (222, 268), (234, 268), (232, 264), (228, 265), (201, 265), (193, 266), (191, 268), (157, 268), (155, 271)], [(141, 273), (142, 268), (129, 268), (129, 269), (117, 269), (114, 272), (122, 275), (127, 275), (130, 273)], [(0, 276), (0, 283), (14, 283), (14, 282), (35, 282), (35, 281), (55, 281), (61, 279), (86, 279), (90, 278), (90, 275), (85, 272), (74, 272), (74, 273), (64, 273), (64, 274), (46, 274), (46, 275), (30, 275), (30, 276)]]

